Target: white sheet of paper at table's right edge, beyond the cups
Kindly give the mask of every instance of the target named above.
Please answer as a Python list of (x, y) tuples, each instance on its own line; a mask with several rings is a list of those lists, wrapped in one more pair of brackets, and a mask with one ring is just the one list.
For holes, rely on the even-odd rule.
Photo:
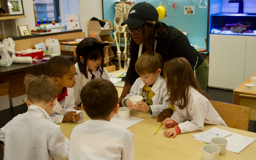
[(240, 134), (233, 133), (232, 135), (225, 137), (228, 140), (227, 150), (235, 153), (241, 152), (244, 148), (252, 144), (255, 138), (246, 137)]

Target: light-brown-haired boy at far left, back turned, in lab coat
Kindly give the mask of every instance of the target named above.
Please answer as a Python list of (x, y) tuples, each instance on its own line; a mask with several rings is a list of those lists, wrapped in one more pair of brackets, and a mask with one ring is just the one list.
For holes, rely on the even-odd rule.
[(0, 129), (4, 160), (68, 159), (70, 142), (65, 142), (68, 139), (49, 116), (57, 101), (58, 86), (45, 75), (26, 75), (24, 84), (28, 111)]

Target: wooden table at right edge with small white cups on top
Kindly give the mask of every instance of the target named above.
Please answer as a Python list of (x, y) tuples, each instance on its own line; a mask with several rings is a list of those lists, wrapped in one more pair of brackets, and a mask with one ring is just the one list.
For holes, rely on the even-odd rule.
[(256, 121), (256, 87), (254, 92), (245, 91), (245, 84), (251, 83), (251, 77), (255, 77), (256, 72), (233, 90), (233, 104), (251, 108), (250, 120)]

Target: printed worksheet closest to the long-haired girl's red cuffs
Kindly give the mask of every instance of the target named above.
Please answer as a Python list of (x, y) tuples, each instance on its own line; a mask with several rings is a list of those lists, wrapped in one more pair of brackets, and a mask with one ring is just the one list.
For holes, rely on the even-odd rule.
[(227, 137), (229, 135), (231, 135), (232, 132), (228, 132), (228, 131), (225, 131), (225, 130), (222, 130), (222, 129), (219, 129), (217, 127), (212, 127), (211, 129), (209, 129), (208, 131), (204, 131), (204, 132), (200, 132), (200, 133), (197, 133), (197, 134), (194, 134), (193, 137), (198, 139), (198, 140), (201, 140), (205, 143), (211, 143), (211, 139), (214, 138), (214, 137)]

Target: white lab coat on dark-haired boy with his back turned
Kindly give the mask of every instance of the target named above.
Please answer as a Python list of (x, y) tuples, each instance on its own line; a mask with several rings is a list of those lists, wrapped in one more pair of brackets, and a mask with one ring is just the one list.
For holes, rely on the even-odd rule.
[(134, 135), (105, 120), (77, 125), (70, 137), (69, 160), (133, 160)]

